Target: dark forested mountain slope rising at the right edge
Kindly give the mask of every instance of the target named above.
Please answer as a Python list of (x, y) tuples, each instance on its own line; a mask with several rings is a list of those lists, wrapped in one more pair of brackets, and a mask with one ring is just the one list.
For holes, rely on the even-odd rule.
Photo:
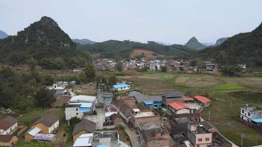
[(193, 58), (214, 60), (222, 65), (246, 63), (249, 66), (262, 66), (262, 24), (251, 32), (230, 37), (216, 47), (207, 47)]

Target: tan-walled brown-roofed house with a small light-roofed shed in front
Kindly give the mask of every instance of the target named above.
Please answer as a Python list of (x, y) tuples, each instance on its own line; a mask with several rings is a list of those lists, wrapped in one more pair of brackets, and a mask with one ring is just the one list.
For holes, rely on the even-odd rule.
[(56, 115), (47, 115), (36, 121), (32, 128), (39, 128), (42, 133), (49, 134), (59, 127), (59, 118)]

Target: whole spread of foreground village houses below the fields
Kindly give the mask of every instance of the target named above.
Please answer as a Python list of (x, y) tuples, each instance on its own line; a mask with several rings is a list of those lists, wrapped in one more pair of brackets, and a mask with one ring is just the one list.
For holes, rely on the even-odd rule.
[[(114, 100), (113, 93), (102, 89), (97, 89), (97, 96), (75, 95), (67, 89), (68, 84), (56, 82), (49, 89), (54, 90), (56, 97), (70, 96), (65, 106), (67, 125), (71, 118), (81, 119), (70, 134), (73, 147), (130, 147), (120, 140), (117, 126), (137, 135), (135, 141), (129, 138), (131, 143), (137, 142), (133, 147), (170, 147), (173, 142), (178, 147), (232, 147), (217, 128), (201, 118), (199, 112), (211, 105), (211, 100), (204, 96), (189, 97), (173, 90), (163, 92), (162, 101), (138, 102), (135, 96), (124, 94), (130, 85), (118, 83), (113, 86), (115, 94), (119, 94)], [(159, 111), (168, 116), (161, 116)], [(259, 108), (241, 107), (241, 120), (262, 130), (262, 110)], [(1, 118), (0, 146), (14, 147), (20, 134), (25, 141), (54, 142), (60, 127), (59, 116), (43, 116), (30, 126), (28, 129), (19, 126), (12, 116)], [(110, 131), (103, 131), (106, 129)]]

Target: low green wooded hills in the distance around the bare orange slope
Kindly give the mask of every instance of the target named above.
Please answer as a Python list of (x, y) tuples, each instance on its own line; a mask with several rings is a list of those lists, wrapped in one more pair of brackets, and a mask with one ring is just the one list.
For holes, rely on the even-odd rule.
[(133, 50), (147, 50), (152, 51), (156, 54), (181, 57), (187, 53), (194, 52), (194, 49), (190, 49), (187, 46), (173, 44), (173, 45), (163, 45), (157, 44), (155, 42), (148, 41), (147, 44), (132, 42), (129, 40), (116, 41), (109, 40), (96, 44), (78, 44), (77, 48), (81, 51), (88, 51), (90, 53), (100, 53), (100, 58), (130, 58)]

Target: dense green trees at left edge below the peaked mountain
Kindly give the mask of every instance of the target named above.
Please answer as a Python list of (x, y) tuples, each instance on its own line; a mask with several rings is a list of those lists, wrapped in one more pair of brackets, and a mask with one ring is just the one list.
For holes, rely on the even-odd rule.
[(9, 67), (0, 70), (0, 106), (26, 112), (33, 107), (50, 107), (55, 101), (47, 89), (54, 82), (50, 75), (35, 71), (18, 73)]

